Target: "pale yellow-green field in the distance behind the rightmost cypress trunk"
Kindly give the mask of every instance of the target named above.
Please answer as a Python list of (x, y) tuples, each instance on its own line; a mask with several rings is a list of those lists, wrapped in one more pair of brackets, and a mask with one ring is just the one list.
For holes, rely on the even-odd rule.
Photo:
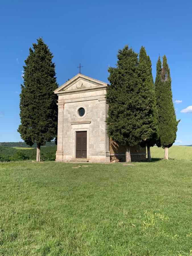
[[(157, 146), (151, 147), (152, 158), (163, 158), (164, 149)], [(189, 146), (172, 146), (169, 148), (169, 158), (177, 160), (191, 160), (192, 161), (192, 147)]]

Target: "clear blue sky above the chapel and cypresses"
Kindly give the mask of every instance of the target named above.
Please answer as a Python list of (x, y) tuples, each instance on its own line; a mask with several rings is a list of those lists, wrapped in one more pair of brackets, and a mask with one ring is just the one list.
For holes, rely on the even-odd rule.
[[(4, 1), (0, 7), (0, 142), (21, 141), (17, 132), (24, 60), (36, 38), (54, 55), (57, 82), (78, 73), (108, 82), (108, 65), (128, 44), (145, 46), (156, 75), (167, 56), (177, 119), (176, 144), (192, 144), (191, 1)], [(191, 107), (190, 107), (191, 106)], [(182, 112), (183, 109), (186, 109)]]

